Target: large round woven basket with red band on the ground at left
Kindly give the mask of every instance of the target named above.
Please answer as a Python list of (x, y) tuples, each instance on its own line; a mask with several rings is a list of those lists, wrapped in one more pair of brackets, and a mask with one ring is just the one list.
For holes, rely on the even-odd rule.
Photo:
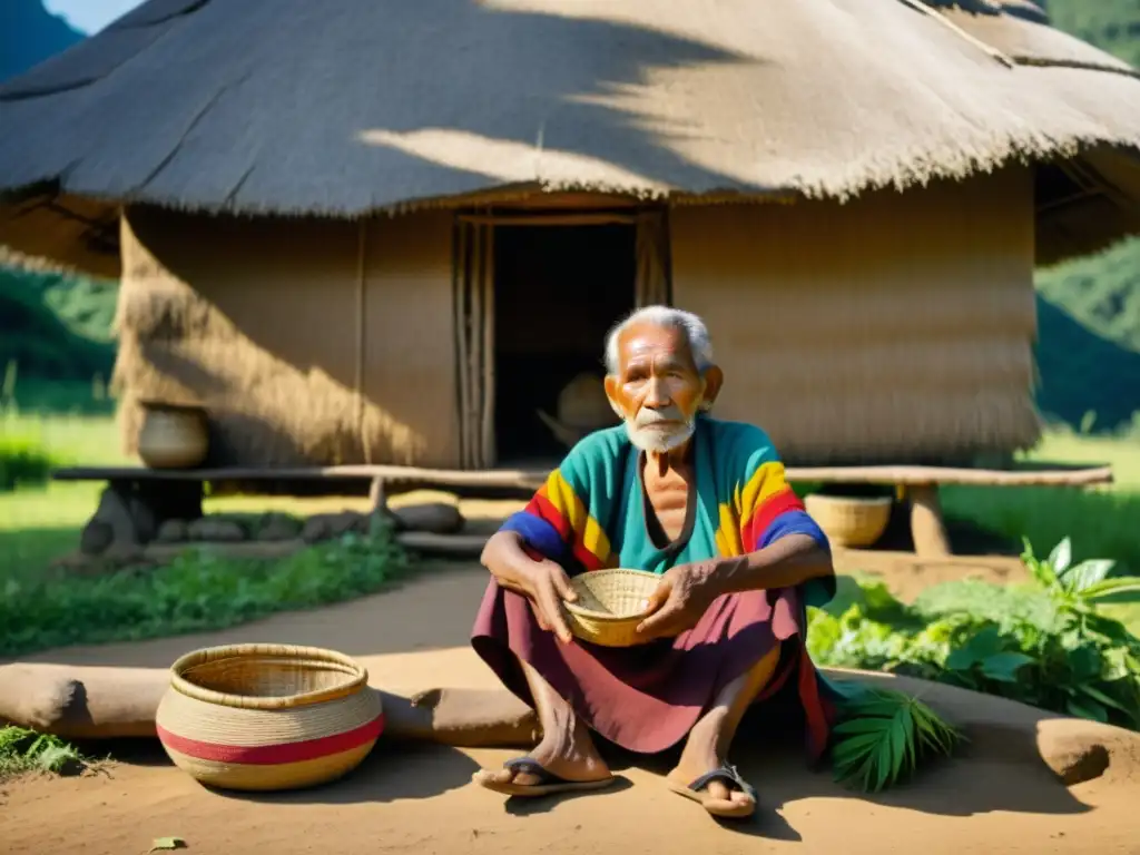
[(291, 790), (355, 768), (384, 725), (380, 694), (352, 659), (319, 648), (237, 644), (171, 666), (158, 739), (210, 787)]

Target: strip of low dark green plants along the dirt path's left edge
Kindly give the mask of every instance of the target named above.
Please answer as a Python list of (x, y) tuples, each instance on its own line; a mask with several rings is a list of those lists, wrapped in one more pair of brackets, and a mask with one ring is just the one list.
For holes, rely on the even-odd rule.
[(169, 567), (0, 588), (0, 658), (67, 644), (221, 629), (381, 589), (408, 565), (388, 526), (285, 559), (187, 551)]

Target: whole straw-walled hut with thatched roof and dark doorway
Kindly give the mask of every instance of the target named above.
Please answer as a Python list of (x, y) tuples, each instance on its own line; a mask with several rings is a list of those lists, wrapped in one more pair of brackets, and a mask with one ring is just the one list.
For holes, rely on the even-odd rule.
[(128, 438), (215, 463), (545, 454), (667, 300), (792, 459), (958, 459), (1140, 233), (1138, 78), (1028, 0), (150, 0), (0, 87), (0, 241), (122, 276)]

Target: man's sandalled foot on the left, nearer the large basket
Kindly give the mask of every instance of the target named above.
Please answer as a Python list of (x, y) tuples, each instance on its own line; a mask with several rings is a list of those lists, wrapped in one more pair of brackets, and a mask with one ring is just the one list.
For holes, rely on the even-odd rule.
[(589, 732), (575, 723), (567, 731), (545, 734), (534, 751), (502, 769), (480, 769), (472, 781), (511, 796), (548, 796), (571, 790), (601, 789), (614, 777), (597, 754)]

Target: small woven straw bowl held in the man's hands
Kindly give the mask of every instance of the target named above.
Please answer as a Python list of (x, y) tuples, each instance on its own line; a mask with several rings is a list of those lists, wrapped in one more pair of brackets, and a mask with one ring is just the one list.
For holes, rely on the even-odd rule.
[(606, 648), (643, 644), (637, 625), (661, 577), (643, 570), (594, 570), (570, 579), (578, 602), (565, 603), (570, 632)]

